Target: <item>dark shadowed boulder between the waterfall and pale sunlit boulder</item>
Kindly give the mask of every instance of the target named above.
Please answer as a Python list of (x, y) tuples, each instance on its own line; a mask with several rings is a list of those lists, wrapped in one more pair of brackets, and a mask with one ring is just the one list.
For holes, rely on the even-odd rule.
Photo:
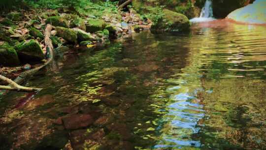
[(233, 10), (241, 8), (250, 0), (212, 0), (213, 15), (215, 18), (225, 18)]

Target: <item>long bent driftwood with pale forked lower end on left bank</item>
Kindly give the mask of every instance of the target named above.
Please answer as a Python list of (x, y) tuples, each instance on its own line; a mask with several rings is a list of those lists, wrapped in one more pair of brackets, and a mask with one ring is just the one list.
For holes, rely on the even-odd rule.
[(51, 37), (51, 31), (52, 31), (52, 26), (50, 24), (48, 24), (46, 26), (45, 29), (45, 47), (46, 47), (46, 57), (47, 57), (47, 61), (39, 66), (36, 67), (34, 69), (31, 69), (29, 71), (25, 71), (23, 73), (21, 73), (17, 78), (14, 79), (14, 81), (12, 81), (9, 78), (6, 78), (4, 76), (0, 76), (0, 79), (6, 81), (7, 83), (9, 83), (8, 86), (0, 86), (0, 89), (5, 89), (5, 90), (16, 90), (16, 91), (26, 91), (26, 92), (31, 92), (31, 91), (38, 91), (41, 90), (39, 88), (27, 88), (24, 86), (20, 86), (19, 84), (23, 83), (26, 79), (28, 79), (29, 77), (31, 77), (32, 75), (36, 74), (40, 69), (44, 68), (45, 66), (47, 66), (48, 64), (50, 64), (53, 59), (54, 59), (54, 48), (52, 45), (52, 41), (50, 39)]

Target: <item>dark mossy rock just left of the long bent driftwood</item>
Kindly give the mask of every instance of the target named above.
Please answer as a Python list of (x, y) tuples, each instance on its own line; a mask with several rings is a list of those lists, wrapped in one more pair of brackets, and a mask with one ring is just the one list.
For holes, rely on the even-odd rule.
[(23, 62), (41, 61), (45, 58), (39, 43), (34, 39), (16, 45), (16, 51)]

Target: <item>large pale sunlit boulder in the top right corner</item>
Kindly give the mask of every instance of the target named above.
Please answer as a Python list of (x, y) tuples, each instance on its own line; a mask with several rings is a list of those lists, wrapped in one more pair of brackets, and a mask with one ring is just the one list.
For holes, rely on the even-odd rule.
[(253, 4), (234, 10), (227, 18), (249, 24), (266, 24), (266, 1), (256, 0)]

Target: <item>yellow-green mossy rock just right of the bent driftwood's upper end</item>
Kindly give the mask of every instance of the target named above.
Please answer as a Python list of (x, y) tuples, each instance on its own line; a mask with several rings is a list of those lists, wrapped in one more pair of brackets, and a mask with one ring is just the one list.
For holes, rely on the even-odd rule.
[(55, 28), (57, 36), (66, 39), (66, 41), (71, 43), (77, 43), (77, 32), (72, 29), (67, 29), (64, 27)]

